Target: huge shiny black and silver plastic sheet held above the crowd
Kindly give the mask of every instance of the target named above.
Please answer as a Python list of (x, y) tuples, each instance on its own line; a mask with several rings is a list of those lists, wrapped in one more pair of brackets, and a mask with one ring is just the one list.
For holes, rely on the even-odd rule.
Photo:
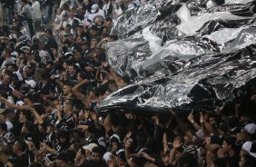
[(107, 44), (108, 61), (132, 84), (96, 111), (202, 110), (249, 93), (256, 80), (255, 2), (194, 2), (151, 1), (116, 20), (120, 40)]

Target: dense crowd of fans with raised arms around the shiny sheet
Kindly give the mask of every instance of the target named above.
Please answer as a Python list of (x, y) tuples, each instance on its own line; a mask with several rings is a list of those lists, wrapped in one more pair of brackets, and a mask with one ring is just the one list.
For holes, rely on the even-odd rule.
[[(130, 83), (105, 44), (113, 19), (143, 1), (5, 1), (0, 167), (252, 167), (256, 95), (192, 113), (97, 113)], [(54, 8), (56, 16), (54, 17)], [(53, 28), (44, 29), (44, 25)], [(51, 27), (51, 26), (50, 26)]]

